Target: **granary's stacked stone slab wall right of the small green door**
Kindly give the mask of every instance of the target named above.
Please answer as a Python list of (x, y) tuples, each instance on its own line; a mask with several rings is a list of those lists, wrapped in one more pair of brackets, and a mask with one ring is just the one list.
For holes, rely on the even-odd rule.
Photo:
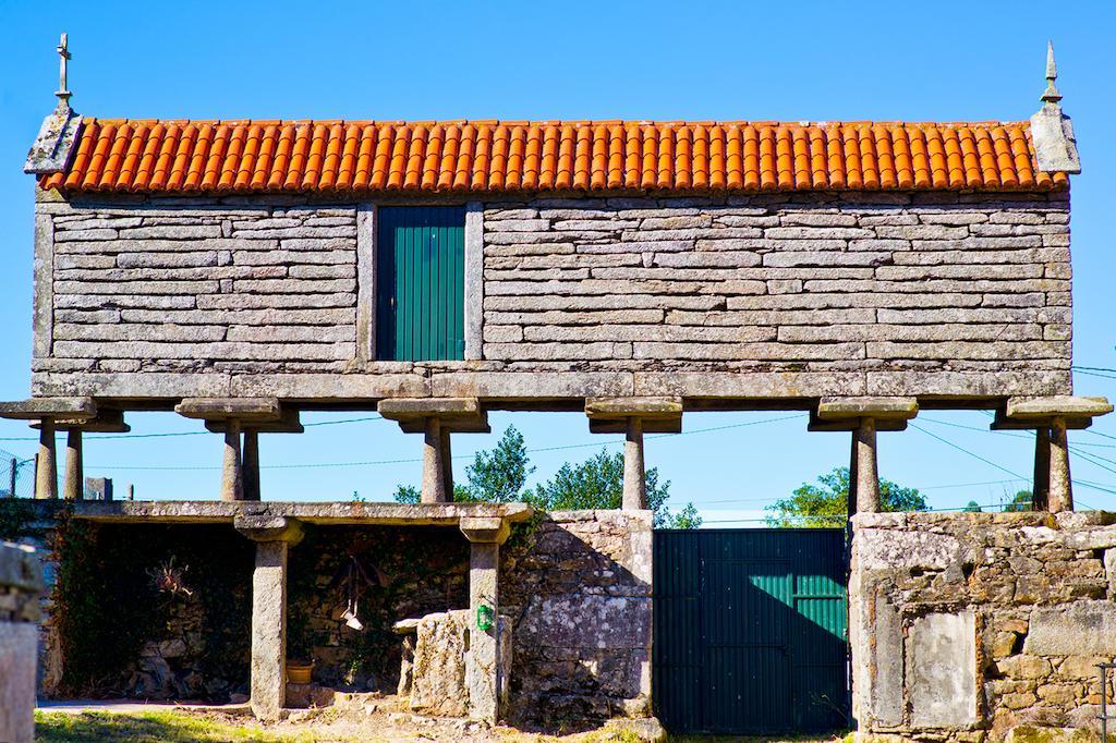
[(703, 392), (655, 375), (672, 370), (804, 373), (848, 394), (1068, 389), (1068, 222), (1066, 194), (490, 208), (484, 358), (639, 370), (638, 394)]

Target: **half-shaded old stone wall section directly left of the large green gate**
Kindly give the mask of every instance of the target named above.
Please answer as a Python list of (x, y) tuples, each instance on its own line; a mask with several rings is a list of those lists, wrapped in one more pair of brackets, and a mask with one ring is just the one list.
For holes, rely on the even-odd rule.
[(550, 726), (651, 715), (651, 512), (555, 512), (512, 540), (500, 575), (511, 715)]

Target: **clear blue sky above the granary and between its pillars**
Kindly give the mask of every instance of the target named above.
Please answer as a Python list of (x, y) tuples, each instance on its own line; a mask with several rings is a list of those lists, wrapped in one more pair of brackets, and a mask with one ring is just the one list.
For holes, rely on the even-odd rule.
[[(0, 398), (29, 388), (32, 180), (21, 166), (57, 87), (54, 47), (70, 35), (73, 105), (96, 116), (173, 118), (691, 118), (1018, 120), (1037, 110), (1047, 38), (1085, 172), (1072, 181), (1075, 364), (1116, 368), (1110, 234), (1116, 174), (1116, 10), (1110, 3), (793, 2), (11, 2), (0, 0)], [(1116, 373), (1110, 375), (1116, 377)], [(1077, 375), (1078, 394), (1116, 398), (1116, 378)], [(693, 414), (648, 440), (647, 463), (710, 521), (747, 525), (771, 500), (848, 459), (844, 434), (804, 415)], [(306, 415), (324, 423), (366, 417)], [(574, 414), (497, 413), (492, 436), (454, 441), (458, 475), (509, 423), (537, 451), (536, 479), (614, 436)], [(198, 422), (131, 415), (135, 434)], [(881, 473), (935, 508), (994, 503), (1031, 471), (1032, 444), (980, 413), (931, 412), (925, 430), (884, 434)], [(970, 430), (969, 426), (978, 428)], [(1116, 490), (1116, 416), (1072, 441), (1075, 479)], [(0, 450), (33, 453), (0, 422)], [(934, 438), (944, 438), (944, 443)], [(387, 499), (417, 481), (420, 442), (383, 421), (264, 436), (264, 498)], [(970, 453), (965, 453), (966, 450)], [(973, 454), (987, 460), (981, 461)], [(87, 474), (138, 498), (213, 498), (218, 436), (87, 437)], [(363, 464), (362, 464), (363, 463)], [(316, 465), (316, 466), (307, 466)], [(2, 465), (0, 465), (2, 467)], [(136, 467), (181, 467), (174, 470)], [(200, 469), (209, 467), (209, 469)], [(980, 483), (980, 484), (971, 484)], [(1116, 495), (1078, 484), (1088, 505)]]

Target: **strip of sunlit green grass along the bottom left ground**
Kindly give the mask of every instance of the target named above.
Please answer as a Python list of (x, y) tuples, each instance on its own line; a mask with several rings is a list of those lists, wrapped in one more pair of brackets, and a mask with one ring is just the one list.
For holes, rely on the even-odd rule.
[(36, 712), (35, 732), (39, 743), (314, 743), (315, 740), (309, 733), (268, 733), (251, 725), (235, 725), (181, 712)]

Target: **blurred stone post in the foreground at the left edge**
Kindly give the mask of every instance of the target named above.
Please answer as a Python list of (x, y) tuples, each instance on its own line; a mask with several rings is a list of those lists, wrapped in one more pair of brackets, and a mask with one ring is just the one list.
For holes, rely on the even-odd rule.
[(39, 597), (33, 550), (0, 542), (0, 741), (35, 740)]

